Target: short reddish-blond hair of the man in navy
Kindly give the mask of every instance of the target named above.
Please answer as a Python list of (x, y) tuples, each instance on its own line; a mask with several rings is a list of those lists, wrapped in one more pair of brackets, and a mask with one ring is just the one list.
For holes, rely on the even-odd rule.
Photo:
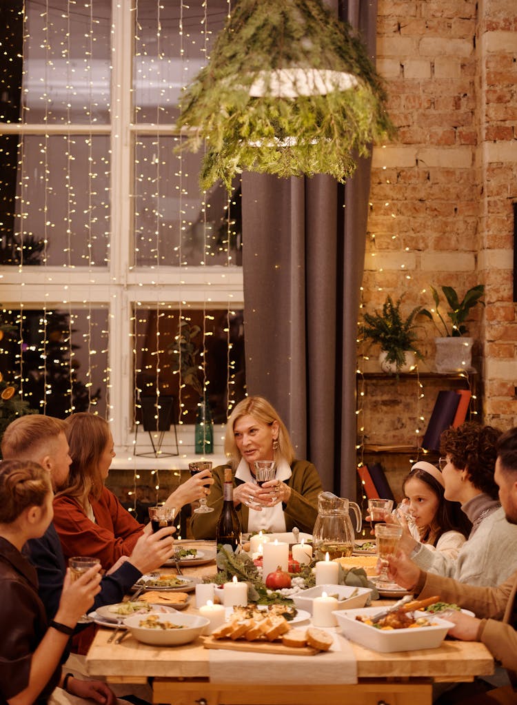
[(63, 419), (39, 414), (20, 416), (4, 431), (2, 457), (6, 460), (40, 460), (65, 429)]

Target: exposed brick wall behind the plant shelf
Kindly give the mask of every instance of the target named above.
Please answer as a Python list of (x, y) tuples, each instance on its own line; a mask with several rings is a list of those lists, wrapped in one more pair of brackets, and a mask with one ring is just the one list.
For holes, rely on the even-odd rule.
[[(379, 0), (377, 67), (398, 135), (373, 155), (363, 303), (372, 310), (404, 294), (409, 311), (431, 307), (430, 284), (461, 295), (485, 284), (487, 307), (468, 323), (485, 421), (517, 425), (515, 1)], [(422, 326), (420, 369), (433, 369), (434, 329)], [(413, 408), (414, 390), (404, 394)], [(387, 438), (400, 420), (389, 405), (376, 419)]]

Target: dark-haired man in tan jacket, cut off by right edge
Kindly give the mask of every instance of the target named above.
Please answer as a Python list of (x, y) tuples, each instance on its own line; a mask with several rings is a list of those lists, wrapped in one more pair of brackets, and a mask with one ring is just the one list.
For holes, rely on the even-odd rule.
[[(506, 521), (517, 524), (517, 427), (506, 431), (497, 441), (497, 460), (494, 474), (499, 486), (499, 500), (506, 514)], [(506, 546), (509, 555), (516, 551), (515, 544)], [(449, 635), (463, 641), (485, 644), (497, 663), (509, 671), (512, 686), (478, 696), (469, 703), (517, 702), (517, 571), (497, 587), (468, 585), (449, 577), (433, 575), (421, 570), (403, 551), (389, 559), (389, 576), (402, 587), (418, 594), (421, 599), (439, 594), (444, 602), (456, 603), (475, 613), (447, 615), (454, 623)], [(478, 687), (480, 682), (477, 683)], [(449, 696), (450, 697), (450, 696)], [(449, 702), (454, 700), (449, 699)], [(458, 701), (458, 700), (456, 700)]]

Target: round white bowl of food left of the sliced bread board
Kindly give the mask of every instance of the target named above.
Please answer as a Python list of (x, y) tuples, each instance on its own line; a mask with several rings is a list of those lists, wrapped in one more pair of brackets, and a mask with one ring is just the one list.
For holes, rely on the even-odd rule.
[[(160, 622), (171, 622), (173, 624), (183, 625), (182, 629), (147, 629), (140, 627), (140, 622), (143, 619), (149, 618), (150, 615), (156, 614)], [(179, 644), (189, 644), (202, 635), (205, 627), (209, 625), (209, 620), (206, 617), (198, 615), (182, 614), (176, 612), (174, 614), (159, 614), (149, 612), (147, 615), (133, 615), (124, 620), (124, 625), (128, 627), (135, 639), (144, 644), (152, 644), (153, 646), (178, 646)]]

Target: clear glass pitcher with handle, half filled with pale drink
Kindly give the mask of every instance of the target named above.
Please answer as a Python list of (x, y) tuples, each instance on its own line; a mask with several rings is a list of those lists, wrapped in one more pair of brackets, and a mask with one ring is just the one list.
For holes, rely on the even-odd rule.
[(360, 532), (363, 520), (358, 505), (336, 497), (332, 492), (320, 492), (318, 515), (312, 530), (318, 558), (324, 558), (325, 553), (329, 554), (330, 560), (352, 555), (355, 532), (350, 518), (351, 509), (355, 513), (357, 531)]

